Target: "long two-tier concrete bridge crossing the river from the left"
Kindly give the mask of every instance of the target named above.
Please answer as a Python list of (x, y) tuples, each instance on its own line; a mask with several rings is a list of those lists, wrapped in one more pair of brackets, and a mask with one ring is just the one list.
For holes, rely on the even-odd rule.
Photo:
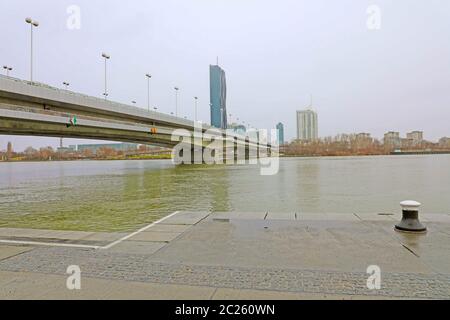
[[(180, 131), (181, 130), (181, 131)], [(194, 132), (201, 132), (196, 139)], [(212, 132), (212, 133), (211, 133)], [(174, 133), (179, 139), (174, 139)], [(46, 84), (0, 76), (0, 134), (132, 142), (174, 148), (189, 141), (192, 150), (219, 141), (245, 159), (271, 146), (255, 136), (226, 132), (161, 112), (108, 101)]]

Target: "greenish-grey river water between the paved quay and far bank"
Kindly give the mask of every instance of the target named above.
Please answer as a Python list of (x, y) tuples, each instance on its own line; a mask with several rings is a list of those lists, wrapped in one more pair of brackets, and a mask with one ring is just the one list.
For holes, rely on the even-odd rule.
[(0, 227), (130, 231), (174, 211), (450, 212), (450, 155), (287, 158), (258, 166), (170, 160), (0, 163)]

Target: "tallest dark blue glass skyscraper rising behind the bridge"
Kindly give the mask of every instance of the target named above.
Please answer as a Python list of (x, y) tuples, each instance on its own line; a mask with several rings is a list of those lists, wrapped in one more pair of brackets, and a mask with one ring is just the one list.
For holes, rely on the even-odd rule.
[(209, 66), (209, 87), (211, 101), (211, 125), (227, 128), (227, 83), (225, 71), (218, 65)]

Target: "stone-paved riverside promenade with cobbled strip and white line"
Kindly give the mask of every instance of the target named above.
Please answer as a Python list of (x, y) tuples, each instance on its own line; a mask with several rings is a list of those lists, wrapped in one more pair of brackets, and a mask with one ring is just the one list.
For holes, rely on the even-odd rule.
[[(131, 234), (0, 229), (1, 299), (449, 299), (450, 215), (179, 212)], [(78, 265), (81, 290), (66, 288)], [(367, 288), (369, 265), (381, 289)]]

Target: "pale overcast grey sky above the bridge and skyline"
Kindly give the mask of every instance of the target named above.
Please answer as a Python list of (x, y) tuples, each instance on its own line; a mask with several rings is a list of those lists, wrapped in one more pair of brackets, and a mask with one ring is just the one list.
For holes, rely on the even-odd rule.
[[(369, 5), (381, 9), (381, 29), (367, 28)], [(70, 5), (81, 29), (66, 26)], [(29, 26), (35, 32), (37, 81), (100, 96), (102, 51), (109, 61), (110, 99), (153, 105), (209, 122), (209, 64), (219, 56), (227, 74), (228, 111), (259, 128), (285, 124), (295, 136), (295, 111), (319, 114), (319, 135), (424, 130), (450, 136), (450, 2), (447, 0), (2, 0), (0, 64), (29, 78)], [(2, 69), (3, 71), (3, 69)], [(0, 136), (58, 144), (55, 138)], [(77, 140), (78, 142), (79, 140)], [(74, 141), (66, 140), (66, 144)]]

